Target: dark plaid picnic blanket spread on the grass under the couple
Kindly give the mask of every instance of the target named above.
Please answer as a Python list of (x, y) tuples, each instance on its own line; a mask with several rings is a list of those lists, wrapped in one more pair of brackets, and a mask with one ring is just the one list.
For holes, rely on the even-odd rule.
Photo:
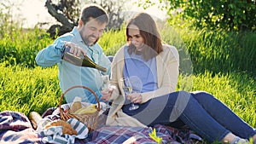
[[(49, 109), (51, 112), (54, 109)], [(51, 112), (48, 112), (47, 116)], [(51, 117), (56, 118), (56, 117)], [(162, 144), (171, 143), (204, 143), (201, 137), (191, 130), (177, 130), (164, 125), (154, 125), (154, 128), (128, 127), (128, 126), (104, 126), (94, 130), (84, 139), (75, 139), (72, 141), (78, 144), (96, 143), (96, 144), (120, 144), (131, 136), (136, 136), (137, 143), (156, 143), (148, 133), (156, 130), (156, 135), (162, 138)], [(49, 138), (46, 135), (40, 135), (32, 129), (30, 120), (21, 112), (4, 111), (0, 112), (0, 143), (45, 143), (43, 139)], [(49, 142), (49, 141), (48, 141)], [(52, 141), (53, 142), (53, 141)]]

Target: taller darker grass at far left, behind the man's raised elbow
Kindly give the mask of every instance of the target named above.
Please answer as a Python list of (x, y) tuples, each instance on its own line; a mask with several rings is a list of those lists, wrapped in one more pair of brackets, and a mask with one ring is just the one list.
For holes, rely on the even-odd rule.
[(12, 66), (36, 66), (35, 57), (38, 51), (53, 40), (47, 33), (38, 29), (13, 31), (0, 40), (0, 62)]

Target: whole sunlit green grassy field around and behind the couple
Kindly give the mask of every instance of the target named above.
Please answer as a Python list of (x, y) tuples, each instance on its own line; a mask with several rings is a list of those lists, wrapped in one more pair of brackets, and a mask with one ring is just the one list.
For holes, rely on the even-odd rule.
[[(255, 33), (165, 30), (163, 39), (177, 47), (181, 58), (177, 90), (212, 93), (255, 128)], [(38, 50), (53, 40), (38, 29), (1, 33), (0, 111), (27, 115), (58, 107), (57, 67), (42, 68), (34, 60)], [(125, 32), (105, 33), (99, 43), (106, 55), (114, 55), (125, 44)]]

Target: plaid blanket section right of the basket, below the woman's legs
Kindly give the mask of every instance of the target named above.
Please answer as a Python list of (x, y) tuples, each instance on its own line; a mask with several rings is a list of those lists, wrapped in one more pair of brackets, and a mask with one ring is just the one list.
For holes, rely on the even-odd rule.
[(131, 136), (135, 136), (136, 143), (157, 144), (148, 134), (155, 129), (156, 135), (162, 138), (162, 144), (181, 144), (181, 143), (204, 143), (200, 136), (195, 135), (191, 130), (177, 130), (172, 127), (156, 124), (154, 128), (129, 127), (129, 126), (105, 126), (95, 130), (91, 135), (88, 144), (120, 144)]

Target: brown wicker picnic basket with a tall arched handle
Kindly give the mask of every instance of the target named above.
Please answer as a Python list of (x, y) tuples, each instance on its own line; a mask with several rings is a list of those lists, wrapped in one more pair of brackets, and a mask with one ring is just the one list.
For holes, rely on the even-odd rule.
[[(67, 110), (67, 112), (64, 112), (64, 111), (61, 109), (61, 101), (63, 100), (64, 95), (66, 95), (69, 90), (75, 89), (75, 88), (87, 89), (87, 90), (89, 90), (89, 91), (96, 97), (96, 101), (97, 101), (97, 105), (98, 105), (96, 112), (90, 113), (90, 114), (73, 114), (73, 113), (69, 113), (68, 110)], [(88, 87), (85, 87), (85, 86), (81, 86), (81, 85), (76, 85), (76, 86), (73, 86), (73, 87), (67, 89), (67, 90), (61, 95), (59, 108), (60, 108), (60, 115), (61, 115), (61, 119), (62, 119), (62, 120), (67, 121), (67, 119), (69, 119), (69, 118), (77, 118), (80, 122), (84, 123), (84, 124), (87, 126), (87, 128), (88, 128), (88, 130), (89, 130), (89, 133), (90, 133), (92, 130), (95, 130), (95, 129), (96, 129), (96, 125), (97, 125), (97, 121), (98, 121), (98, 115), (99, 115), (99, 112), (101, 111), (101, 107), (100, 107), (99, 98), (97, 97), (96, 93), (95, 93), (92, 89), (90, 89), (90, 88), (88, 88)]]

